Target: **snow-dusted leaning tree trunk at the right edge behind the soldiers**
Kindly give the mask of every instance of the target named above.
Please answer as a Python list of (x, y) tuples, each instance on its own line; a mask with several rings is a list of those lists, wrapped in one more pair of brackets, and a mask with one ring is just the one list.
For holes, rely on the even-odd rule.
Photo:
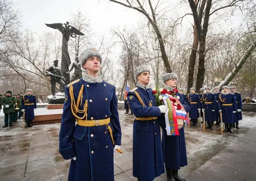
[(226, 76), (226, 78), (220, 82), (218, 85), (220, 89), (222, 89), (223, 85), (228, 85), (228, 83), (237, 75), (239, 70), (242, 68), (244, 63), (247, 61), (251, 53), (255, 50), (256, 48), (256, 42), (254, 42), (253, 45), (249, 46), (247, 49), (247, 52), (242, 56), (242, 58), (237, 62), (237, 65), (232, 69), (232, 71)]

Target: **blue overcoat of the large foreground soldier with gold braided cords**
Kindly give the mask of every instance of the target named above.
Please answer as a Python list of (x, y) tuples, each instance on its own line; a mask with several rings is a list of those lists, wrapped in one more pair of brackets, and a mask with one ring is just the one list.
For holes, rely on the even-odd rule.
[[(77, 103), (82, 85), (82, 103), (78, 105), (80, 110), (83, 110), (85, 101), (88, 100), (87, 116), (82, 120), (86, 122), (110, 118), (108, 125), (112, 129), (114, 143), (106, 125), (75, 125), (76, 118), (71, 111), (71, 96)], [(71, 159), (74, 156), (77, 158), (76, 161), (71, 159), (68, 181), (114, 181), (114, 144), (121, 145), (116, 88), (105, 81), (95, 83), (80, 79), (66, 86), (65, 93), (66, 101), (59, 132), (59, 153), (64, 159)], [(83, 117), (84, 113), (76, 115)]]

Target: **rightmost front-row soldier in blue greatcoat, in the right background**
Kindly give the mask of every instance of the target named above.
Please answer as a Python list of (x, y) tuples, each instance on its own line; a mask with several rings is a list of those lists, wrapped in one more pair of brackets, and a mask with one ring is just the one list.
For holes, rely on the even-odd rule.
[(220, 113), (225, 123), (223, 132), (233, 133), (232, 124), (234, 123), (235, 113), (237, 112), (237, 99), (235, 95), (229, 92), (229, 86), (222, 87), (223, 93), (219, 95), (220, 98)]

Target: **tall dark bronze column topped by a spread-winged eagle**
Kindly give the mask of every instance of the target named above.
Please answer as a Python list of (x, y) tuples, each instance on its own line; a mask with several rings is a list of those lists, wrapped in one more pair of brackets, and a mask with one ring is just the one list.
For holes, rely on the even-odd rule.
[(61, 70), (62, 75), (66, 80), (66, 84), (70, 82), (69, 76), (69, 65), (71, 63), (69, 57), (69, 50), (68, 50), (68, 41), (69, 37), (76, 38), (76, 35), (84, 35), (81, 31), (76, 29), (75, 27), (69, 25), (69, 22), (64, 24), (62, 23), (54, 23), (54, 24), (45, 24), (46, 26), (57, 29), (62, 33), (62, 63), (61, 63)]

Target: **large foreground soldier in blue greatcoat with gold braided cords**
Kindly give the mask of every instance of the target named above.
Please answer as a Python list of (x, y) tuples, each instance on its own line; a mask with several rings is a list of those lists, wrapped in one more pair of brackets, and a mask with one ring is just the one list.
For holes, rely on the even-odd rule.
[(69, 181), (114, 181), (114, 150), (121, 146), (116, 88), (99, 75), (95, 48), (81, 52), (79, 61), (86, 71), (65, 87), (59, 153), (71, 159)]

